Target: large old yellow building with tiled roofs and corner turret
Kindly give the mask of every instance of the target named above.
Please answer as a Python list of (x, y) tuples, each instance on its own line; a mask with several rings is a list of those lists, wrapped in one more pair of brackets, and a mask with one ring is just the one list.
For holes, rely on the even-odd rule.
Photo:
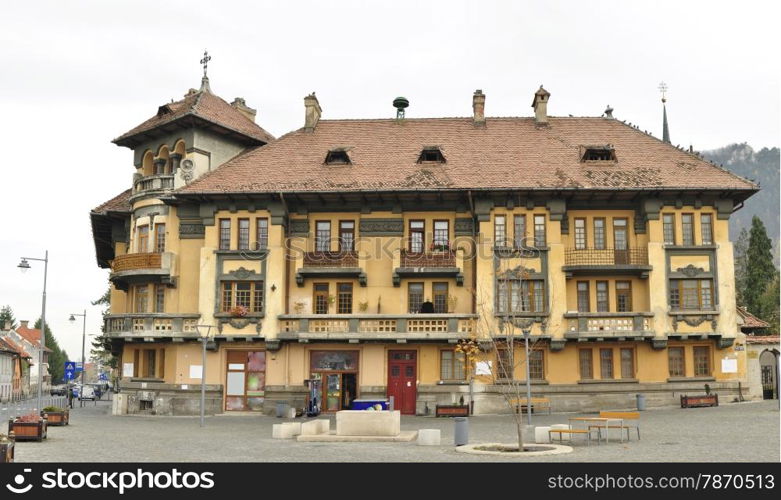
[[(757, 186), (610, 113), (550, 117), (549, 97), (533, 117), (486, 118), (477, 91), (468, 118), (397, 99), (396, 118), (321, 120), (312, 94), (274, 139), (204, 78), (115, 139), (133, 186), (91, 217), (129, 411), (198, 411), (196, 325), (209, 412), (303, 407), (312, 380), (324, 411), (506, 411), (526, 362), (501, 340), (524, 330), (554, 410), (736, 393), (728, 222)], [(477, 365), (454, 349), (471, 337)]]

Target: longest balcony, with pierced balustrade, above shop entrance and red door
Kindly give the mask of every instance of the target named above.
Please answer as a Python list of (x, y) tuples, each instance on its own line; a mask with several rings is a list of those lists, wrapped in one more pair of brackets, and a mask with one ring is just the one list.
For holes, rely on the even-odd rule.
[(287, 314), (280, 317), (280, 339), (310, 340), (448, 340), (474, 332), (474, 314)]

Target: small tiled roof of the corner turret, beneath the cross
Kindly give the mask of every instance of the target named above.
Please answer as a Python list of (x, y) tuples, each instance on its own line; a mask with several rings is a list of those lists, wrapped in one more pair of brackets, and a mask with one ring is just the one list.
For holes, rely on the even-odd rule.
[(264, 143), (274, 140), (274, 137), (271, 134), (208, 90), (201, 90), (194, 94), (189, 94), (181, 101), (164, 104), (163, 106), (160, 106), (159, 109), (164, 109), (167, 112), (158, 112), (152, 118), (149, 118), (137, 127), (117, 137), (113, 142), (119, 145), (127, 145), (126, 143), (129, 140), (139, 134), (149, 132), (186, 116), (202, 118), (223, 128)]

